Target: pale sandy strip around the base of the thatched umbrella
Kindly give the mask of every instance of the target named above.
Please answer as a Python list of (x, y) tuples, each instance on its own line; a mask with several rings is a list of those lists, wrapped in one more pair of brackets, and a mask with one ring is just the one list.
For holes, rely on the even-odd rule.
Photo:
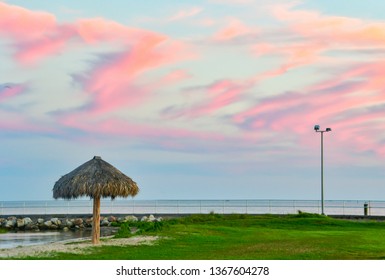
[(60, 252), (81, 254), (95, 246), (127, 246), (139, 244), (152, 245), (157, 239), (157, 236), (133, 236), (121, 239), (113, 239), (112, 236), (108, 236), (102, 238), (99, 245), (92, 245), (91, 238), (78, 238), (42, 245), (0, 249), (0, 258), (20, 258), (27, 256), (44, 257)]

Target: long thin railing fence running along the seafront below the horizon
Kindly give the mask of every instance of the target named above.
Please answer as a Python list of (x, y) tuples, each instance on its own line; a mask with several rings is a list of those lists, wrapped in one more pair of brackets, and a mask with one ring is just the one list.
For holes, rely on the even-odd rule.
[[(385, 216), (385, 201), (326, 200), (326, 215)], [(298, 211), (321, 213), (319, 200), (102, 200), (106, 214), (194, 214), (245, 213), (294, 214)], [(4, 201), (0, 216), (91, 214), (92, 200)]]

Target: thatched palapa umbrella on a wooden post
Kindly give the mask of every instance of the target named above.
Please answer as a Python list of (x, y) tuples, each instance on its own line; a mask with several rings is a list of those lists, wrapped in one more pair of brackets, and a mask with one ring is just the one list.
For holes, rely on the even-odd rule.
[(138, 192), (137, 184), (130, 177), (98, 156), (62, 176), (53, 187), (55, 199), (93, 198), (93, 244), (98, 244), (100, 238), (100, 198), (135, 196)]

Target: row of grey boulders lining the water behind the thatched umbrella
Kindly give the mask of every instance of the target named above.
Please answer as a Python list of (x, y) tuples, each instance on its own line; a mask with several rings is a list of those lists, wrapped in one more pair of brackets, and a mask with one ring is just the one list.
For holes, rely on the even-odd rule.
[[(119, 222), (138, 221), (135, 216), (125, 217), (100, 217), (101, 227), (110, 227), (118, 225)], [(161, 221), (162, 218), (155, 218), (153, 215), (144, 216), (140, 221), (154, 222)], [(116, 223), (118, 222), (118, 223)], [(92, 217), (87, 218), (37, 218), (32, 220), (29, 217), (8, 217), (0, 218), (0, 228), (5, 228), (11, 231), (40, 231), (40, 230), (83, 230), (92, 227)]]

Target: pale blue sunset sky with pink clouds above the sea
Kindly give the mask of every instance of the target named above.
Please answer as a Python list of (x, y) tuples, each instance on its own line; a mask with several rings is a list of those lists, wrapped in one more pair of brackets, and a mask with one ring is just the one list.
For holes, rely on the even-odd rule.
[(385, 2), (0, 1), (0, 201), (385, 200)]

